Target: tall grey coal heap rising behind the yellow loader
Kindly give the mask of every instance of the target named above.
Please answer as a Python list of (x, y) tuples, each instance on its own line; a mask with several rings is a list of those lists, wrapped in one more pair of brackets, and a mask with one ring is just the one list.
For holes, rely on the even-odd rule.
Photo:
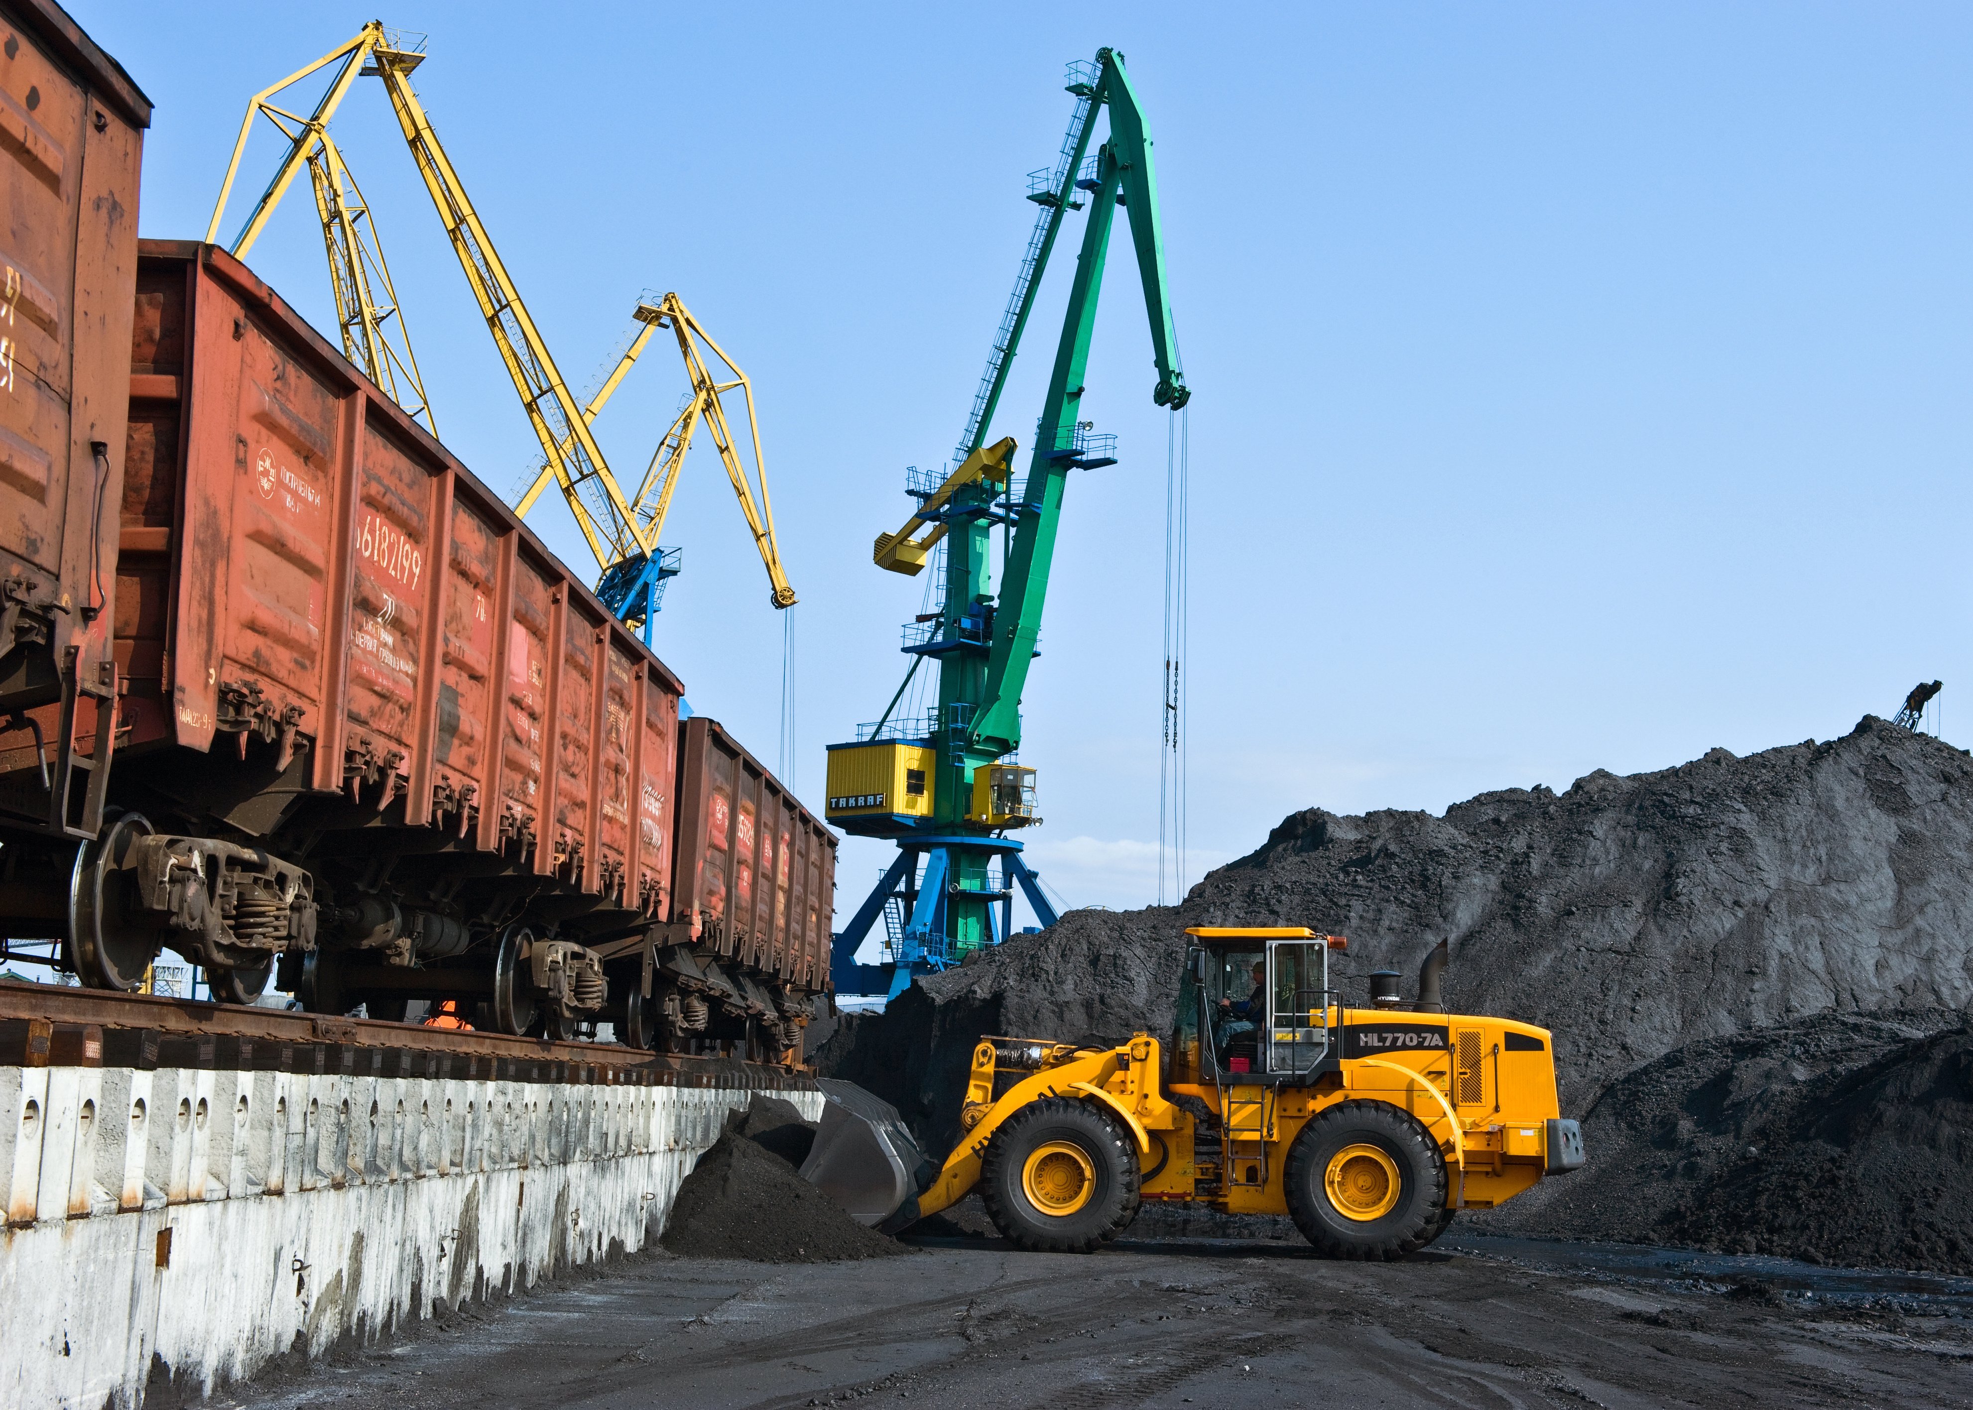
[[(1904, 1016), (1902, 1041), (1926, 1037), (1914, 1022), (1957, 1025), (1973, 1000), (1973, 759), (1866, 716), (1827, 743), (1713, 749), (1630, 777), (1598, 769), (1561, 795), (1501, 789), (1444, 816), (1306, 809), (1182, 905), (1073, 911), (844, 1022), (817, 1061), (949, 1150), (979, 1035), (1168, 1031), (1186, 925), (1348, 935), (1334, 974), (1350, 1002), (1363, 1002), (1371, 970), (1411, 976), (1444, 939), (1448, 1004), (1553, 1027), (1563, 1110), (1586, 1114), (1612, 1083), (1713, 1039), (1819, 1016)], [(1693, 1061), (1713, 1059), (1695, 1049)], [(1594, 1140), (1580, 1189), (1604, 1165)], [(1539, 1215), (1572, 1181), (1547, 1181), (1496, 1219)], [(1677, 1229), (1728, 1238), (1701, 1223)], [(1632, 1229), (1588, 1219), (1574, 1231), (1671, 1229), (1620, 1225)]]

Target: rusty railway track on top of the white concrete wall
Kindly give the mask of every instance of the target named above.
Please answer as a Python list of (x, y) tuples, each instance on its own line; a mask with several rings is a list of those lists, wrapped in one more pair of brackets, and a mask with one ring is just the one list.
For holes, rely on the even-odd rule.
[(189, 1067), (608, 1087), (807, 1089), (773, 1063), (0, 980), (0, 1067)]

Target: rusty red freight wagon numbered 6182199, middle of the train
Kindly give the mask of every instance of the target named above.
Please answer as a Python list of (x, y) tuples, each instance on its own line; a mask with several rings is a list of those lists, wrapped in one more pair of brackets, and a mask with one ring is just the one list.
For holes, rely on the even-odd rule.
[(235, 1000), (278, 960), (320, 1012), (793, 1047), (827, 962), (673, 923), (671, 670), (249, 268), (146, 241), (134, 286), (107, 818), (0, 850), (8, 935), (105, 988), (170, 945)]

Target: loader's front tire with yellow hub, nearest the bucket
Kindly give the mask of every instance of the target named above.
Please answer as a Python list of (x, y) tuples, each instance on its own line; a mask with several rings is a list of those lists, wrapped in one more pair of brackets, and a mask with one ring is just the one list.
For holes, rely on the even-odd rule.
[(981, 1162), (981, 1203), (1016, 1248), (1087, 1254), (1136, 1219), (1136, 1150), (1089, 1102), (1050, 1096), (992, 1134)]

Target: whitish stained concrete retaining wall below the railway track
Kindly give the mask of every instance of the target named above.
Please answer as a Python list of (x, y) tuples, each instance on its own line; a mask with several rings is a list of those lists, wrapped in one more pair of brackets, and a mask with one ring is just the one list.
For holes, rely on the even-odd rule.
[[(775, 1091), (807, 1116), (821, 1094)], [(211, 1392), (647, 1246), (750, 1089), (0, 1067), (12, 1406)]]

